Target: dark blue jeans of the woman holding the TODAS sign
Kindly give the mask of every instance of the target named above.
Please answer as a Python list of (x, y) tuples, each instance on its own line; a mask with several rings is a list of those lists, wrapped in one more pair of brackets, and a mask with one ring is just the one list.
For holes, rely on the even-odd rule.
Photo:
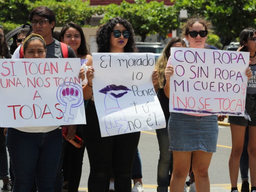
[(61, 129), (30, 133), (8, 128), (6, 145), (15, 182), (12, 192), (28, 192), (36, 178), (38, 192), (54, 192), (62, 150)]

